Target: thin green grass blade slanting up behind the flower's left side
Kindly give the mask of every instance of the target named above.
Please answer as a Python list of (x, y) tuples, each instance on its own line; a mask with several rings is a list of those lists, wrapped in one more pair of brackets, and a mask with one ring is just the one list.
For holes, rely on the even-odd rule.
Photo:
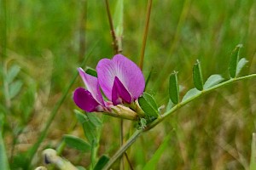
[[(97, 43), (97, 42), (96, 42)], [(89, 56), (90, 54), (92, 53), (93, 49), (96, 47), (96, 44), (95, 46), (90, 50), (90, 53), (87, 54), (86, 57), (84, 57), (84, 61), (82, 63), (81, 66), (84, 66), (85, 63), (87, 62), (87, 59), (89, 59)], [(49, 129), (49, 126), (51, 125), (51, 123), (53, 122), (53, 120), (55, 119), (55, 116), (57, 114), (57, 112), (59, 111), (62, 103), (64, 102), (64, 100), (66, 99), (67, 97), (67, 94), (69, 92), (69, 90), (72, 88), (73, 86), (73, 83), (75, 82), (76, 78), (79, 76), (79, 73), (76, 72), (75, 75), (73, 76), (73, 79), (72, 81), (70, 82), (70, 84), (68, 85), (66, 91), (64, 94), (62, 94), (61, 96), (61, 99), (58, 101), (58, 103), (55, 105), (54, 109), (50, 112), (50, 115), (49, 115), (49, 118), (44, 126), (44, 129), (43, 131), (40, 133), (40, 136), (38, 137), (38, 140), (35, 144), (33, 144), (32, 148), (29, 150), (28, 152), (28, 155), (27, 155), (27, 158), (28, 158), (28, 163), (31, 164), (32, 162), (32, 158), (33, 156), (36, 154), (37, 150), (38, 150), (38, 147), (40, 146), (40, 144), (43, 142), (43, 140), (45, 139), (46, 135), (47, 135), (47, 132), (48, 132), (48, 129)]]

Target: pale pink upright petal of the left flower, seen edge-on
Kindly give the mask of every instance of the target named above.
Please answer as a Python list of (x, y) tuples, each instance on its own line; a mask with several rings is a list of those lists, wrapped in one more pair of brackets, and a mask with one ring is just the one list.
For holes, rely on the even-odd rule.
[(86, 74), (82, 68), (79, 68), (78, 70), (79, 75), (82, 77), (87, 90), (98, 103), (104, 105), (98, 79), (96, 77), (90, 76), (89, 74)]

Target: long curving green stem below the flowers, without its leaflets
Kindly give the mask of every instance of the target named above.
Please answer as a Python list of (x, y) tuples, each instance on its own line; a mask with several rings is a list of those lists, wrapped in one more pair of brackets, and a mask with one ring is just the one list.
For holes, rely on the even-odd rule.
[(148, 124), (148, 126), (146, 128), (137, 130), (135, 133), (133, 133), (131, 138), (128, 139), (127, 142), (124, 145), (122, 145), (122, 147), (119, 148), (119, 150), (117, 150), (117, 152), (108, 161), (108, 163), (106, 164), (106, 166), (103, 169), (104, 170), (109, 169), (113, 165), (113, 163), (119, 158), (119, 156), (122, 156), (124, 154), (124, 152), (131, 146), (131, 144), (133, 144), (136, 141), (136, 139), (143, 132), (147, 132), (151, 128), (158, 125), (160, 122), (165, 120), (167, 116), (170, 116), (174, 111), (177, 111), (179, 108), (183, 107), (183, 105), (188, 104), (192, 100), (199, 99), (203, 94), (211, 93), (213, 90), (215, 90), (217, 88), (222, 88), (222, 87), (224, 87), (226, 85), (229, 85), (233, 82), (237, 82), (237, 81), (241, 81), (241, 80), (245, 80), (245, 79), (250, 79), (250, 78), (253, 78), (253, 77), (256, 77), (256, 74), (251, 74), (251, 75), (248, 75), (248, 76), (245, 76), (245, 77), (231, 78), (230, 80), (225, 81), (225, 82), (221, 82), (221, 83), (213, 86), (212, 88), (207, 88), (207, 89), (201, 91), (199, 94), (196, 94), (195, 96), (193, 96), (189, 99), (186, 99), (185, 101), (182, 101), (181, 103), (175, 105), (174, 107), (172, 107), (171, 110), (166, 111), (163, 115), (161, 115), (159, 118), (157, 118), (154, 122), (151, 122), (150, 124)]

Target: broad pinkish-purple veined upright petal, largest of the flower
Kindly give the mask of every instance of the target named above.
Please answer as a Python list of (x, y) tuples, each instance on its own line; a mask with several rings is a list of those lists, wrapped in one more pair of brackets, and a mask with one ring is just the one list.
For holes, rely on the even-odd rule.
[(125, 89), (131, 94), (132, 100), (143, 94), (145, 79), (140, 68), (121, 54), (113, 59), (101, 59), (96, 66), (99, 84), (108, 99), (112, 99), (114, 77), (118, 77)]

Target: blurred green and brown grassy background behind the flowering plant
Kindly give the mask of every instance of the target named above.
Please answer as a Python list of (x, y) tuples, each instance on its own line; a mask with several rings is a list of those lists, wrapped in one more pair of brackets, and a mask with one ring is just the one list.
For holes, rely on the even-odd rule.
[[(116, 1), (109, 3), (113, 14)], [(90, 49), (96, 46), (86, 65), (94, 68), (99, 59), (113, 56), (113, 48), (104, 1), (1, 0), (0, 5), (1, 67), (20, 68), (15, 77), (21, 82), (20, 91), (9, 102), (0, 94), (1, 111), (8, 117), (4, 141), (12, 161), (11, 155), (26, 151), (35, 142), (49, 111)], [(124, 1), (123, 54), (137, 64), (146, 9), (145, 0)], [(168, 77), (175, 70), (183, 87), (181, 95), (185, 94), (193, 88), (196, 59), (201, 60), (205, 80), (216, 73), (228, 78), (230, 53), (239, 43), (243, 44), (241, 56), (249, 60), (242, 74), (255, 73), (255, 39), (254, 0), (155, 0), (143, 68), (146, 77), (152, 71), (146, 91), (159, 106), (166, 105)], [(248, 169), (256, 120), (255, 82), (238, 82), (207, 94), (145, 133), (128, 150), (134, 168), (141, 169), (170, 135), (157, 169)], [(79, 86), (80, 79), (73, 90)], [(28, 104), (22, 102), (29, 98), (26, 95), (32, 96)], [(78, 109), (72, 95), (68, 94), (40, 150), (55, 148), (65, 133), (83, 137), (81, 126), (70, 129), (76, 122), (73, 109)], [(118, 149), (118, 124), (119, 120), (104, 117), (100, 154), (112, 156)], [(132, 129), (131, 122), (125, 122), (125, 138)], [(42, 164), (40, 150), (35, 165)], [(62, 156), (76, 165), (90, 163), (90, 155), (68, 148)]]

